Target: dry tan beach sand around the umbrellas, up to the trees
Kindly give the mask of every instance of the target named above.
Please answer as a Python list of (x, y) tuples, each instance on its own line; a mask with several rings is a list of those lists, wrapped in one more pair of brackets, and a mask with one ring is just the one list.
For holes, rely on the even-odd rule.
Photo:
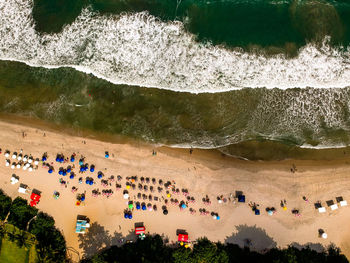
[[(38, 209), (54, 217), (70, 251), (78, 251), (80, 258), (84, 253), (88, 255), (104, 246), (118, 244), (121, 236), (129, 235), (135, 222), (143, 222), (147, 232), (164, 234), (170, 242), (176, 241), (177, 229), (185, 229), (191, 240), (206, 236), (212, 241), (230, 241), (244, 245), (245, 239), (248, 238), (252, 241), (251, 248), (255, 250), (275, 246), (285, 247), (291, 243), (300, 246), (309, 244), (317, 249), (322, 245), (335, 243), (346, 256), (350, 256), (349, 207), (339, 207), (336, 211), (330, 211), (327, 207), (327, 212), (324, 214), (318, 213), (314, 208), (314, 203), (318, 200), (322, 201), (324, 206), (325, 201), (335, 200), (337, 196), (350, 200), (349, 158), (335, 161), (253, 162), (225, 157), (216, 151), (195, 149), (190, 154), (188, 150), (157, 148), (143, 143), (107, 143), (45, 130), (43, 127), (31, 128), (6, 122), (0, 122), (0, 130), (2, 148), (0, 188), (12, 198), (21, 196), (28, 200), (29, 194), (18, 193), (19, 183), (40, 190), (42, 198)], [(38, 170), (33, 172), (12, 170), (5, 166), (6, 149), (18, 153), (23, 149), (24, 154), (32, 154), (33, 157), (39, 158), (47, 152), (48, 161), (53, 162), (56, 171), (48, 174), (47, 169), (40, 164)], [(152, 155), (153, 149), (157, 151), (155, 156)], [(105, 151), (109, 151), (110, 158), (104, 157)], [(96, 185), (78, 184), (78, 177), (85, 178), (91, 173), (81, 175), (77, 169), (75, 169), (77, 176), (73, 180), (65, 178), (69, 182), (67, 188), (59, 184), (62, 176), (58, 175), (58, 168), (66, 167), (68, 164), (56, 163), (54, 161), (56, 154), (63, 153), (69, 157), (73, 152), (78, 157), (84, 155), (87, 163), (96, 166), (92, 176), (97, 181)], [(291, 172), (293, 164), (297, 168), (295, 173)], [(75, 165), (77, 166), (77, 161)], [(102, 171), (106, 177), (121, 175), (122, 190), (116, 191), (114, 182), (112, 187), (106, 188), (114, 191), (110, 198), (92, 197), (92, 189), (99, 188), (100, 191), (104, 189), (97, 180), (97, 171)], [(13, 173), (20, 177), (20, 182), (15, 185), (10, 184)], [(157, 212), (135, 211), (132, 220), (124, 219), (123, 211), (127, 207), (127, 200), (122, 197), (125, 178), (136, 175), (138, 178), (154, 177), (157, 182), (158, 179), (164, 182), (174, 180), (180, 190), (187, 188), (189, 195), (196, 198), (196, 203), (190, 204), (190, 207), (196, 209), (197, 214), (191, 215), (188, 209), (180, 211), (178, 207), (168, 205), (169, 214), (165, 216), (161, 211), (164, 202), (153, 201), (152, 204), (157, 204)], [(83, 205), (75, 205), (77, 193), (72, 193), (72, 186), (78, 187), (77, 193), (86, 191)], [(157, 187), (158, 184), (155, 185), (155, 188)], [(53, 198), (54, 191), (60, 192), (60, 198), (57, 200)], [(228, 198), (230, 194), (235, 195), (236, 191), (243, 191), (246, 195), (245, 204), (217, 202), (217, 196), (224, 195)], [(129, 192), (133, 199), (133, 196), (141, 191), (136, 188)], [(153, 195), (165, 196), (164, 192), (158, 194), (157, 191)], [(201, 201), (205, 195), (211, 199), (210, 206), (204, 205)], [(303, 196), (306, 196), (309, 202), (305, 202)], [(179, 201), (185, 199), (182, 194), (174, 198)], [(280, 201), (283, 199), (287, 201), (286, 211), (280, 207)], [(249, 201), (260, 204), (261, 215), (254, 215), (247, 205)], [(275, 207), (277, 213), (269, 216), (265, 211), (266, 207)], [(199, 208), (217, 212), (221, 219), (214, 220), (210, 215), (199, 215)], [(300, 217), (291, 213), (294, 208), (300, 211)], [(85, 215), (90, 219), (92, 224), (90, 234), (83, 236), (75, 233), (77, 215)], [(319, 229), (325, 230), (328, 234), (327, 239), (319, 238)], [(94, 231), (96, 235), (91, 239)], [(92, 245), (86, 243), (89, 238), (93, 242)], [(85, 240), (83, 246), (80, 246), (81, 240)]]

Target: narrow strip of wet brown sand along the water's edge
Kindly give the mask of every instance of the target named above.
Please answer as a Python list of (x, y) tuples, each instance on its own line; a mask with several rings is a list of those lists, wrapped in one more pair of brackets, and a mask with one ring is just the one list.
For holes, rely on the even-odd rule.
[[(84, 137), (102, 141), (105, 143), (132, 144), (132, 145), (152, 145), (154, 148), (174, 149), (180, 153), (187, 153), (191, 147), (177, 147), (161, 143), (152, 143), (126, 135), (102, 133), (80, 127), (71, 127), (66, 124), (56, 124), (45, 120), (20, 116), (17, 114), (0, 113), (0, 121), (11, 124), (23, 125), (36, 129), (45, 129), (51, 132), (64, 133), (70, 136)], [(251, 140), (217, 148), (192, 148), (201, 153), (214, 152), (214, 155), (225, 155), (228, 159), (244, 161), (332, 161), (347, 160), (350, 156), (350, 146), (335, 148), (305, 148), (302, 146), (286, 145), (279, 141)], [(263, 149), (263, 150), (261, 150)], [(274, 152), (274, 154), (270, 154)], [(282, 156), (282, 157), (278, 157)]]

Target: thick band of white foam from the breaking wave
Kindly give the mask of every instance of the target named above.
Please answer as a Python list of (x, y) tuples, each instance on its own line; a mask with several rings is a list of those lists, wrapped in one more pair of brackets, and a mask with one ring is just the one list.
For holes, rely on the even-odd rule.
[(69, 66), (115, 84), (193, 93), (242, 87), (346, 87), (349, 51), (309, 44), (298, 57), (266, 58), (201, 44), (180, 22), (147, 13), (102, 16), (89, 9), (57, 34), (34, 29), (32, 0), (0, 0), (0, 59)]

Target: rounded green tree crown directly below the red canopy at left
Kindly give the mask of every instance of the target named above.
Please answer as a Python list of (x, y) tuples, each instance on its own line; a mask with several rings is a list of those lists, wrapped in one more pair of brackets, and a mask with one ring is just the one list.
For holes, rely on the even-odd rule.
[(38, 213), (38, 209), (27, 205), (27, 200), (17, 197), (12, 202), (8, 222), (25, 230), (30, 219)]

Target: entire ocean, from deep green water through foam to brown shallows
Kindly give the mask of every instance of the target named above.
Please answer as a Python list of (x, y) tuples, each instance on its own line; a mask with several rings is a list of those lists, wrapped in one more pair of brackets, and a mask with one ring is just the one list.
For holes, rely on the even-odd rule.
[(348, 1), (0, 0), (0, 111), (173, 146), (349, 143)]

